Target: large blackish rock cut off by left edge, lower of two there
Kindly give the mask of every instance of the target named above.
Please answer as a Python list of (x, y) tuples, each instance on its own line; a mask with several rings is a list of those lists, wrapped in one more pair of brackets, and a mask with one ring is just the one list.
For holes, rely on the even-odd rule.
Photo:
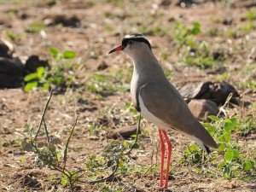
[(23, 84), (24, 67), (18, 58), (0, 57), (0, 88), (18, 88)]

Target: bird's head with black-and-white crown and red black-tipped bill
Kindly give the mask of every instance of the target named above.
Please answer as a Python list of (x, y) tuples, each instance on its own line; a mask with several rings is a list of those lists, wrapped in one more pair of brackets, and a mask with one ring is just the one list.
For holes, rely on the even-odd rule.
[(122, 51), (126, 55), (133, 57), (133, 55), (137, 55), (137, 53), (139, 53), (141, 50), (151, 51), (151, 45), (149, 44), (147, 38), (141, 34), (131, 34), (126, 35), (122, 40), (122, 44), (110, 50), (108, 54), (116, 51)]

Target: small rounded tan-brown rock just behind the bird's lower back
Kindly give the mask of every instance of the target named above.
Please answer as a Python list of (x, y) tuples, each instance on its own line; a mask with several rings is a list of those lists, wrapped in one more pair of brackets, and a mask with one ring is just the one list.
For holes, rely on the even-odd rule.
[(215, 102), (201, 99), (201, 100), (191, 100), (189, 102), (189, 109), (194, 114), (196, 119), (207, 119), (209, 115), (218, 114), (218, 106)]

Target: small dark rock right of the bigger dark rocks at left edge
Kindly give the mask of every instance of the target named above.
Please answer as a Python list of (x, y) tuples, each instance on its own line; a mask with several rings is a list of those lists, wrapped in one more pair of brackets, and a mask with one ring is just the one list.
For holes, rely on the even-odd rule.
[(38, 67), (48, 67), (49, 63), (45, 60), (40, 60), (38, 55), (31, 55), (27, 60), (25, 64), (25, 73), (35, 73), (37, 71)]

